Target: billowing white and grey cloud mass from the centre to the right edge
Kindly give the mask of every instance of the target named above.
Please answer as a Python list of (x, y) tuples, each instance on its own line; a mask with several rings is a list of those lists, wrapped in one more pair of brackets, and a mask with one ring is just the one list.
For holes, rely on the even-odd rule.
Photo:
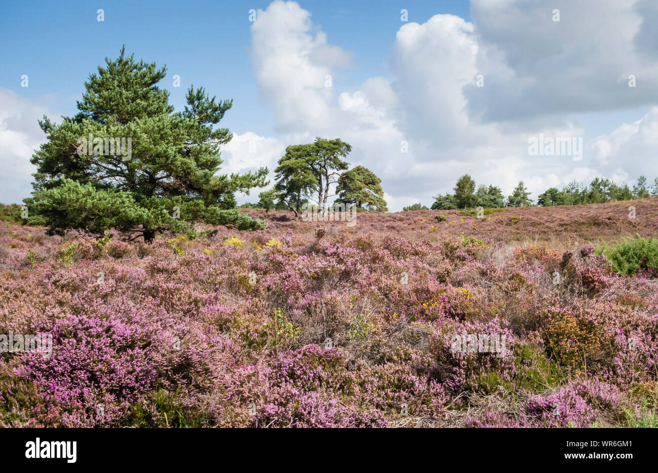
[[(621, 146), (621, 131), (584, 143), (582, 161), (529, 156), (528, 139), (582, 138), (576, 112), (654, 103), (655, 12), (645, 0), (556, 0), (550, 8), (536, 0), (472, 0), (472, 23), (436, 14), (403, 24), (392, 41), (391, 78), (374, 76), (334, 96), (322, 78), (346, 66), (349, 54), (330, 46), (310, 12), (277, 0), (251, 27), (254, 72), (280, 139), (322, 135), (351, 143), (350, 162), (382, 178), (392, 210), (429, 204), (463, 173), (505, 193), (523, 180), (536, 197), (571, 179), (624, 175), (625, 164), (606, 166), (601, 158), (606, 146)], [(630, 74), (637, 87), (628, 87)], [(625, 146), (645, 159), (649, 150), (630, 143), (629, 126), (622, 127)]]

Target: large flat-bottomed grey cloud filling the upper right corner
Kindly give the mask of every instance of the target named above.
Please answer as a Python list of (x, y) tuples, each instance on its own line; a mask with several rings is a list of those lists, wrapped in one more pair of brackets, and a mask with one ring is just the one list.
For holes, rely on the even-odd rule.
[(658, 102), (653, 0), (472, 0), (470, 14), (487, 89), (465, 89), (471, 116), (520, 120)]

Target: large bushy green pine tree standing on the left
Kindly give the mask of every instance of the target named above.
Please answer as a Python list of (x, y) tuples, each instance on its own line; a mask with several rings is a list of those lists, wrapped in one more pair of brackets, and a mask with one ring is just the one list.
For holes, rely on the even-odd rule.
[(74, 118), (59, 125), (45, 116), (39, 121), (48, 141), (32, 157), (38, 171), (33, 197), (25, 201), (30, 221), (60, 235), (115, 228), (145, 240), (164, 230), (192, 232), (195, 221), (263, 228), (263, 221), (240, 214), (234, 194), (265, 186), (268, 169), (216, 175), (219, 147), (232, 133), (213, 125), (232, 101), (191, 87), (187, 106), (174, 113), (169, 93), (157, 86), (166, 68), (136, 62), (124, 48), (105, 62), (84, 84)]

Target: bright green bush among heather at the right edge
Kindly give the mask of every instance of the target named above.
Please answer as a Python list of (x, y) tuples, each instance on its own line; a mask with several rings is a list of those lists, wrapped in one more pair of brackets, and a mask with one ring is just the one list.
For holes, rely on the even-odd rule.
[(658, 240), (639, 235), (624, 238), (615, 246), (603, 246), (597, 254), (605, 254), (620, 275), (632, 276), (642, 269), (658, 267)]

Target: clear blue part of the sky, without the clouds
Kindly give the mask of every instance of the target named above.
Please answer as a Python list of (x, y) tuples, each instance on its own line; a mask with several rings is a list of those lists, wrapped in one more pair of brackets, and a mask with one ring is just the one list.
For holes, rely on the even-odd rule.
[[(390, 45), (400, 26), (400, 11), (409, 21), (424, 21), (436, 12), (468, 18), (468, 1), (307, 1), (303, 7), (333, 42), (349, 49), (355, 64), (340, 71), (342, 87), (359, 87), (372, 75), (386, 76)], [(166, 64), (163, 88), (180, 110), (191, 84), (220, 99), (234, 99), (222, 124), (235, 133), (272, 134), (270, 111), (259, 103), (259, 88), (249, 62), (249, 10), (268, 2), (227, 1), (89, 1), (13, 2), (0, 16), (0, 86), (41, 101), (66, 116), (89, 73), (104, 58), (128, 53), (147, 62)], [(400, 5), (403, 5), (401, 7)], [(97, 21), (97, 9), (105, 21)], [(67, 27), (63, 25), (68, 24)], [(27, 74), (29, 87), (20, 87)], [(171, 76), (181, 77), (172, 87)], [(255, 113), (257, 111), (257, 113)]]

